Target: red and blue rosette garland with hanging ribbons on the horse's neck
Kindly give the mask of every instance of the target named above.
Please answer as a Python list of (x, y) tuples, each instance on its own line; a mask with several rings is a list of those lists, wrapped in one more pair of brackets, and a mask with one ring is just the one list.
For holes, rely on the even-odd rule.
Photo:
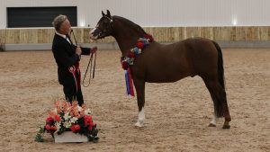
[(127, 56), (121, 58), (121, 67), (125, 70), (125, 80), (128, 95), (134, 96), (130, 66), (134, 64), (135, 58), (141, 53), (142, 49), (148, 46), (148, 44), (152, 41), (153, 37), (151, 35), (144, 34), (142, 38), (139, 38), (139, 40), (137, 40), (136, 46), (128, 50)]

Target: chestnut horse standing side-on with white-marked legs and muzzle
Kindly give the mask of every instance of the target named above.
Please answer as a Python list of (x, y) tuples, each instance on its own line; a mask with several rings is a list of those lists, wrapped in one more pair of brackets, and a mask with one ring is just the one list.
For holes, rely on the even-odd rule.
[[(120, 16), (102, 12), (103, 17), (90, 31), (90, 39), (98, 40), (112, 36), (117, 41), (122, 57), (127, 57), (137, 40), (146, 32), (136, 23)], [(142, 127), (145, 121), (145, 83), (172, 83), (186, 76), (201, 76), (211, 94), (214, 114), (209, 126), (215, 127), (216, 120), (224, 117), (223, 129), (229, 129), (223, 59), (220, 46), (213, 40), (192, 38), (164, 45), (153, 40), (130, 65), (137, 93), (139, 119), (135, 124)]]

